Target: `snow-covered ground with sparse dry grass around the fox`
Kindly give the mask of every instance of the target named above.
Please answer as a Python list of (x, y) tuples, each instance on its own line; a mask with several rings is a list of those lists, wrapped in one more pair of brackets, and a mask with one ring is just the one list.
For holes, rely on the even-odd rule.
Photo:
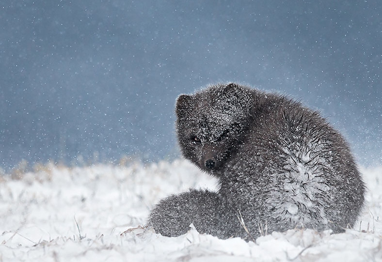
[(354, 230), (273, 232), (256, 243), (191, 229), (141, 228), (159, 199), (215, 181), (184, 160), (143, 167), (45, 166), (0, 177), (1, 261), (381, 261), (382, 167), (362, 169), (367, 206)]

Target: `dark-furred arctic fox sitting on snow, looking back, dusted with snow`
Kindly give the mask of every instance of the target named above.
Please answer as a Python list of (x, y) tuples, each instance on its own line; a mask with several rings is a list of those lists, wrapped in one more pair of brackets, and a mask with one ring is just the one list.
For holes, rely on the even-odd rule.
[(220, 189), (159, 201), (147, 221), (157, 233), (178, 236), (192, 223), (200, 233), (253, 240), (354, 226), (365, 185), (347, 142), (317, 111), (234, 83), (180, 95), (175, 111), (183, 156)]

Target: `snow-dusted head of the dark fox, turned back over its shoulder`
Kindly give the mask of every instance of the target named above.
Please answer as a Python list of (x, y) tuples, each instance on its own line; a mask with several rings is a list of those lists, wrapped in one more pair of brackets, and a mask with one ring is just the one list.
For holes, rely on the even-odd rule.
[(220, 170), (244, 139), (252, 105), (251, 91), (233, 83), (180, 95), (175, 112), (183, 156), (202, 170)]

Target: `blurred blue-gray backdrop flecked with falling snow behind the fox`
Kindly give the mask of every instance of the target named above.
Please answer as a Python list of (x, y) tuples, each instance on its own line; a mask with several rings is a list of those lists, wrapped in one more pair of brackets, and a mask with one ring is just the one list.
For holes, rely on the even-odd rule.
[(382, 164), (382, 1), (0, 4), (0, 164), (177, 156), (174, 104), (218, 81), (318, 109)]

